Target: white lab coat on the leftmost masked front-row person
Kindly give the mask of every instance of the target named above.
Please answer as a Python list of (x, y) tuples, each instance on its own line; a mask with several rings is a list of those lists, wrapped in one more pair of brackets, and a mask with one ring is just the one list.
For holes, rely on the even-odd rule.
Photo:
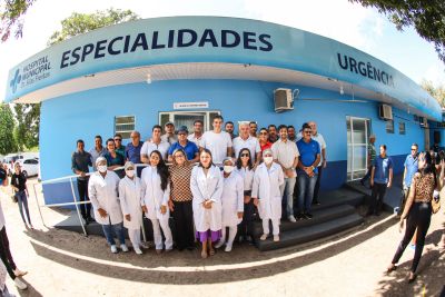
[[(88, 196), (95, 209), (96, 221), (101, 225), (122, 222), (122, 211), (120, 209), (118, 187), (120, 178), (113, 171), (107, 170), (105, 178), (96, 171), (88, 181)], [(98, 209), (107, 211), (107, 217), (102, 218)]]

